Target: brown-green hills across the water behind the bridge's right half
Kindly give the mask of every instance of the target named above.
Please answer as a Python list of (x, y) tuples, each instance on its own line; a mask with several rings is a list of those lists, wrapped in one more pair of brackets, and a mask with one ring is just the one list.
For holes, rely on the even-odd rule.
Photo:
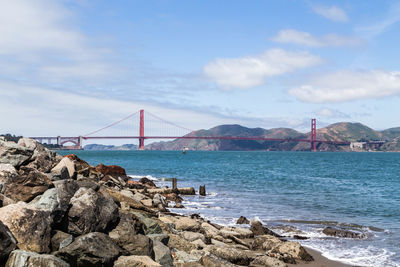
[[(198, 130), (187, 136), (243, 136), (283, 139), (310, 139), (310, 133), (301, 133), (290, 128), (247, 128), (237, 124), (220, 125), (208, 130)], [(382, 150), (400, 151), (400, 127), (384, 131), (376, 131), (361, 123), (339, 122), (325, 128), (317, 129), (317, 139), (336, 140), (347, 142), (361, 141), (387, 141), (388, 145), (382, 146)], [(389, 145), (390, 144), (390, 145)], [(204, 140), (204, 139), (176, 139), (162, 141), (146, 146), (149, 150), (181, 150), (188, 147), (190, 150), (282, 150), (282, 151), (307, 151), (309, 143), (304, 142), (271, 142), (251, 140)], [(318, 144), (321, 151), (347, 151), (348, 146), (335, 146), (330, 144)]]

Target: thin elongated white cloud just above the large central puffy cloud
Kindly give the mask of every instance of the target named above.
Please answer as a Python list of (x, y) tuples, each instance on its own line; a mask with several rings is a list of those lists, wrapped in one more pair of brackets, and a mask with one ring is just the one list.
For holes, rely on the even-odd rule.
[(315, 37), (308, 32), (301, 32), (294, 29), (281, 30), (272, 40), (278, 43), (292, 43), (312, 47), (358, 46), (363, 43), (363, 41), (357, 37), (341, 36), (337, 34)]

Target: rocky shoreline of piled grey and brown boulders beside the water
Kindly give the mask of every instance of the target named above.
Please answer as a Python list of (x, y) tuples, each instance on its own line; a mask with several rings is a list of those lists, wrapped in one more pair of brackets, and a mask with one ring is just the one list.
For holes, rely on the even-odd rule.
[[(250, 229), (181, 216), (182, 194), (119, 166), (0, 139), (0, 266), (292, 266), (313, 262), (259, 221)], [(311, 266), (311, 265), (310, 265)]]

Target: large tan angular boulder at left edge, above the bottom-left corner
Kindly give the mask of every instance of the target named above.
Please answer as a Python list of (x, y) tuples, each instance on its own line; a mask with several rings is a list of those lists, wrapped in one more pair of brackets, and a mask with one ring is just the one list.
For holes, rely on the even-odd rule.
[(10, 229), (20, 249), (50, 252), (50, 212), (18, 202), (0, 208), (0, 221)]

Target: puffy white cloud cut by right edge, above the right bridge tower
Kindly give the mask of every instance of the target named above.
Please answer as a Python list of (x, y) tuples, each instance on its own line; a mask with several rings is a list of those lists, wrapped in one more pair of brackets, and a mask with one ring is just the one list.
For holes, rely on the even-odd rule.
[(289, 90), (303, 102), (344, 102), (400, 94), (400, 72), (338, 71), (320, 75)]

